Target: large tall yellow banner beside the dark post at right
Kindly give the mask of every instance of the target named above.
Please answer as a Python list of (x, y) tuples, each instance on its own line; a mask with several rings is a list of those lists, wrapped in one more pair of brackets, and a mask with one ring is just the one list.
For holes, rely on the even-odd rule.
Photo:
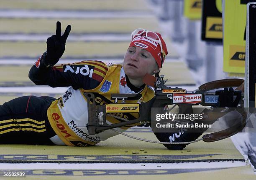
[(224, 36), (223, 70), (224, 72), (245, 72), (246, 51), (246, 4), (251, 0), (223, 0)]

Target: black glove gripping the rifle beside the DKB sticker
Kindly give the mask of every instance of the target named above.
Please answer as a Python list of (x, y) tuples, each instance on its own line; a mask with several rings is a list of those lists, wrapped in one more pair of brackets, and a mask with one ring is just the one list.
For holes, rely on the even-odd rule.
[[(218, 90), (215, 92), (215, 95), (219, 95), (218, 103), (215, 107), (237, 107), (239, 101), (241, 100), (242, 91), (235, 91), (232, 87), (225, 87), (224, 90)], [(236, 95), (236, 99), (234, 99), (234, 95)]]

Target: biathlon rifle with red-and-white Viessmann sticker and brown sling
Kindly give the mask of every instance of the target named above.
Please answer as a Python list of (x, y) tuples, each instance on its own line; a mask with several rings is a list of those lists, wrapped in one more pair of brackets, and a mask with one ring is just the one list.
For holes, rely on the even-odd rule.
[[(167, 87), (164, 80), (164, 75), (161, 77), (155, 77), (156, 80), (154, 84), (151, 83), (151, 86), (154, 85), (155, 95), (148, 102), (144, 103), (127, 103), (129, 100), (139, 100), (141, 98), (141, 94), (112, 94), (111, 100), (114, 100), (113, 104), (108, 105), (96, 105), (94, 94), (90, 92), (85, 92), (84, 95), (87, 98), (88, 105), (88, 124), (86, 127), (90, 135), (95, 135), (96, 133), (100, 133), (104, 130), (109, 130), (113, 128), (121, 128), (121, 127), (129, 127), (129, 125), (135, 124), (144, 124), (151, 121), (151, 108), (153, 107), (166, 107), (166, 105), (177, 105), (179, 107), (179, 113), (191, 114), (193, 113), (192, 105), (202, 105), (202, 106), (214, 106), (218, 103), (218, 95), (216, 95), (216, 91), (220, 88), (224, 87), (237, 87), (234, 91), (234, 95), (238, 98), (240, 93), (240, 102), (235, 110), (237, 110), (242, 116), (242, 122), (239, 122), (232, 127), (222, 130), (217, 133), (211, 133), (203, 136), (203, 140), (205, 142), (212, 142), (216, 140), (221, 140), (224, 138), (228, 138), (238, 132), (240, 132), (246, 125), (246, 112), (243, 111), (243, 83), (242, 79), (224, 79), (224, 80), (216, 80), (212, 82), (207, 82), (197, 90), (189, 92), (182, 88), (172, 88)], [(149, 84), (149, 83), (148, 83)], [(214, 110), (216, 108), (210, 108), (210, 110), (205, 113), (204, 119), (205, 121), (211, 122), (215, 121), (218, 118), (222, 117), (226, 113), (230, 112), (230, 110)], [(219, 109), (219, 108), (217, 108)], [(111, 115), (113, 112), (128, 112), (128, 113), (138, 113), (139, 117), (133, 120), (126, 120), (124, 118), (120, 118), (114, 115)], [(163, 112), (163, 111), (162, 111)], [(156, 113), (156, 112), (154, 112)], [(123, 120), (123, 122), (118, 122), (114, 124), (108, 124), (106, 122), (106, 117), (112, 116), (117, 119)], [(202, 120), (202, 121), (203, 121)]]

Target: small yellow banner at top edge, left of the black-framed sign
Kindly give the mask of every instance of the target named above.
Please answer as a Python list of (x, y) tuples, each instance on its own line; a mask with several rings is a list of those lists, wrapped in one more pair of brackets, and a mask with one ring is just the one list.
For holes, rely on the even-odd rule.
[(184, 16), (191, 20), (200, 20), (202, 0), (184, 0)]

